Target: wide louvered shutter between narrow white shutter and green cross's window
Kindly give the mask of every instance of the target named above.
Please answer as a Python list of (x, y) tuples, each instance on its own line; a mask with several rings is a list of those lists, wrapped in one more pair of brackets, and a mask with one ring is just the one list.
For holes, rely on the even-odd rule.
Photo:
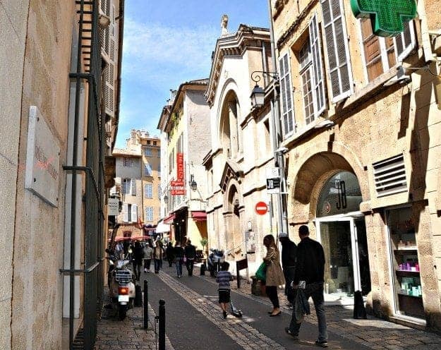
[(342, 0), (320, 0), (320, 2), (325, 28), (327, 61), (330, 67), (332, 103), (335, 103), (350, 96), (354, 88), (344, 8)]

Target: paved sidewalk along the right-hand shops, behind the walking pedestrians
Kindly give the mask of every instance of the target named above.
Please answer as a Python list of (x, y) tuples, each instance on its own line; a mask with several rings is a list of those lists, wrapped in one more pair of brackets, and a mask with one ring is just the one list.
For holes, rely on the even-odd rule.
[[(195, 274), (200, 274), (199, 269)], [(200, 276), (208, 282), (216, 283), (210, 277), (210, 272), (205, 276)], [(270, 303), (268, 298), (251, 294), (251, 284), (241, 280), (241, 289), (237, 289), (237, 282), (231, 282), (231, 291), (253, 298), (261, 303)], [(291, 315), (292, 310), (286, 306), (286, 296), (283, 289), (279, 289), (279, 301), (283, 313)], [(311, 301), (310, 301), (311, 303)], [(328, 331), (349, 339), (370, 349), (389, 349), (389, 350), (425, 350), (441, 349), (441, 336), (431, 332), (416, 330), (394, 322), (388, 322), (380, 318), (368, 315), (367, 320), (353, 318), (353, 305), (336, 305), (336, 303), (325, 303), (325, 312)], [(306, 316), (306, 321), (317, 325), (314, 306), (311, 303), (311, 314)]]

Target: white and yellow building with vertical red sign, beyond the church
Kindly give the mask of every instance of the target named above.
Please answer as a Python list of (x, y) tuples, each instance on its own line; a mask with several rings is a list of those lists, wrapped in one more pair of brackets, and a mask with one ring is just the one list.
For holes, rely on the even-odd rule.
[(207, 79), (182, 83), (165, 106), (157, 128), (162, 131), (162, 219), (169, 239), (190, 239), (198, 250), (207, 238), (207, 182), (203, 157), (210, 148)]

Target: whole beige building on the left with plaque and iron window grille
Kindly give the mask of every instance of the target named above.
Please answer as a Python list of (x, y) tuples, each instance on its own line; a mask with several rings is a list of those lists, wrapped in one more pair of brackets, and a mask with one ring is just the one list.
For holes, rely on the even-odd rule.
[[(99, 212), (105, 210), (106, 183), (114, 177), (111, 170), (104, 174), (99, 161), (106, 163), (111, 153), (118, 111), (101, 113), (102, 6), (87, 3), (83, 13), (73, 0), (62, 6), (41, 0), (0, 6), (1, 349), (68, 349), (83, 327), (85, 345), (95, 341), (102, 264), (92, 265), (104, 255)], [(122, 43), (122, 17), (116, 17), (123, 1), (107, 3), (115, 8), (108, 24), (116, 33), (116, 97)], [(106, 122), (109, 128), (99, 128)], [(74, 175), (66, 166), (87, 168)], [(87, 230), (99, 239), (86, 240)], [(90, 267), (88, 277), (68, 272)]]

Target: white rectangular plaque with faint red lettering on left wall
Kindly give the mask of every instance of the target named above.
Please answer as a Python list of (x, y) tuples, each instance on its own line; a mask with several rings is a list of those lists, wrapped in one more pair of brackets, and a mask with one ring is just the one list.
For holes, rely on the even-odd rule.
[(58, 205), (60, 146), (36, 106), (29, 109), (25, 188)]

